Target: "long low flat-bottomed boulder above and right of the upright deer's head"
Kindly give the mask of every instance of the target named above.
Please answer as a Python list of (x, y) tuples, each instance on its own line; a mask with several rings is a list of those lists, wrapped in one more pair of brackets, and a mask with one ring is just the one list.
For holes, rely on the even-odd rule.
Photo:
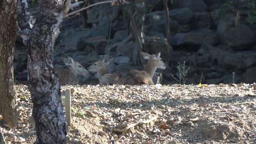
[(170, 44), (177, 45), (216, 45), (219, 41), (218, 35), (210, 29), (198, 29), (189, 33), (177, 33), (170, 38)]

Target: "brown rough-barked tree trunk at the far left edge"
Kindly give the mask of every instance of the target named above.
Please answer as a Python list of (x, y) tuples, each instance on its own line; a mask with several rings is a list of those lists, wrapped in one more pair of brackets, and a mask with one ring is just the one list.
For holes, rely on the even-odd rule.
[(15, 1), (0, 1), (0, 113), (10, 127), (18, 124), (13, 78), (13, 51), (17, 32)]

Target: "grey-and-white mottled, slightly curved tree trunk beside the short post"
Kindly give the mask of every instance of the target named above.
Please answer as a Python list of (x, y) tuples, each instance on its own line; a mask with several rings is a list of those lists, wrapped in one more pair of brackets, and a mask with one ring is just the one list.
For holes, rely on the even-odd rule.
[(64, 5), (57, 0), (38, 3), (40, 12), (27, 43), (28, 88), (36, 122), (36, 143), (66, 143), (67, 122), (52, 54)]

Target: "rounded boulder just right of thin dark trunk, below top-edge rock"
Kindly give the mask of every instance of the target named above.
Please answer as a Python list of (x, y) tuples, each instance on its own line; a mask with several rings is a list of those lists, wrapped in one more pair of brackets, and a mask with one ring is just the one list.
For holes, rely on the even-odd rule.
[(189, 8), (173, 9), (169, 11), (169, 17), (171, 20), (176, 20), (179, 25), (185, 25), (192, 20), (193, 11)]

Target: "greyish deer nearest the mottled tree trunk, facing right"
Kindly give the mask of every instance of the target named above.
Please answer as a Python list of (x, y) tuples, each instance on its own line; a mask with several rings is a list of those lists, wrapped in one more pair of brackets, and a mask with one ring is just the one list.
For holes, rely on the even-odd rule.
[(88, 79), (91, 73), (72, 57), (63, 59), (65, 66), (56, 68), (61, 85), (78, 85)]

